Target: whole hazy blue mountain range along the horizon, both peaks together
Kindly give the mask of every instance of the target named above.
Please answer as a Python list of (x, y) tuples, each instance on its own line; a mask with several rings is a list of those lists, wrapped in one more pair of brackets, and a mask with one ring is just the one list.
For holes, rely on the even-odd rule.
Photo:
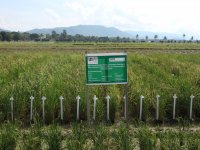
[[(3, 29), (0, 29), (2, 31)], [(138, 34), (139, 39), (145, 39), (148, 36), (149, 39), (153, 39), (155, 35), (158, 36), (158, 39), (163, 39), (164, 36), (167, 39), (182, 39), (182, 35), (174, 33), (161, 33), (161, 32), (150, 32), (150, 31), (122, 31), (115, 27), (105, 27), (100, 25), (77, 25), (71, 27), (56, 27), (56, 28), (42, 28), (42, 29), (32, 29), (26, 31), (28, 33), (37, 33), (37, 34), (51, 34), (52, 31), (56, 33), (62, 33), (63, 30), (67, 31), (69, 35), (84, 35), (84, 36), (108, 36), (108, 37), (127, 37), (135, 39)], [(8, 30), (4, 30), (8, 31)]]

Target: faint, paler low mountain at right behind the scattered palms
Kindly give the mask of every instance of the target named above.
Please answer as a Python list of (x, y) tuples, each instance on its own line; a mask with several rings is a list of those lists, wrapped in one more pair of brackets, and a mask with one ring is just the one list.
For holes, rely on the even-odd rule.
[(133, 38), (136, 38), (136, 35), (139, 35), (139, 39), (145, 39), (148, 36), (149, 39), (154, 39), (154, 36), (157, 35), (158, 39), (163, 39), (164, 36), (167, 39), (183, 39), (182, 35), (174, 34), (174, 33), (164, 33), (164, 32), (149, 32), (149, 31), (126, 31), (127, 33), (131, 34)]

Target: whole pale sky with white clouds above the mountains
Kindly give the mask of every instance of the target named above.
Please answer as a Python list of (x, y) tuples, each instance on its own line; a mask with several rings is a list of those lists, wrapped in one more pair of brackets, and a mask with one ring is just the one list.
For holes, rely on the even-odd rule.
[(0, 0), (0, 28), (104, 25), (200, 36), (199, 0)]

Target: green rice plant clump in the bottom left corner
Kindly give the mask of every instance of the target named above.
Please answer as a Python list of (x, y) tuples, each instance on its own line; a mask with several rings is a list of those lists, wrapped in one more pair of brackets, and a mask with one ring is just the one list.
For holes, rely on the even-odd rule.
[(15, 150), (19, 131), (15, 125), (4, 123), (0, 126), (0, 149)]

